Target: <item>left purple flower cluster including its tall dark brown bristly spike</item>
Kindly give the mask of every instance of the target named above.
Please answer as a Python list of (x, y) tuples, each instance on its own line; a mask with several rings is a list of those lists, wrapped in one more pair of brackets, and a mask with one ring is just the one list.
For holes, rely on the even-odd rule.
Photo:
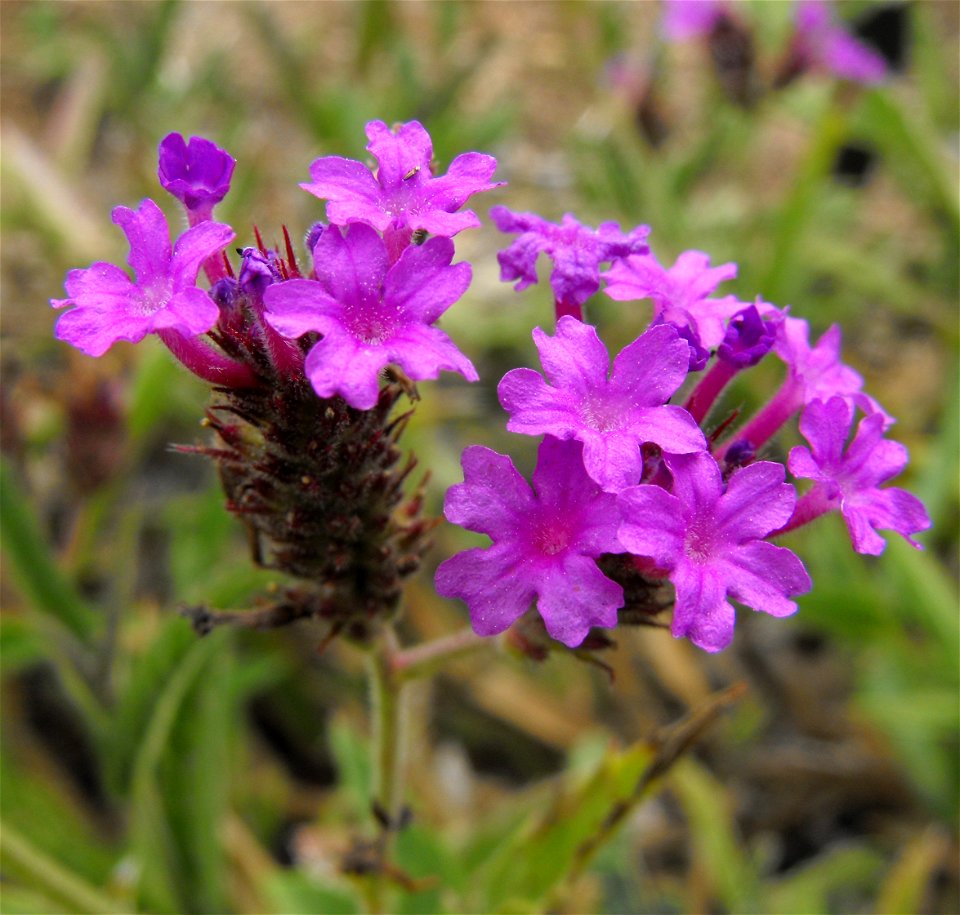
[[(399, 462), (397, 440), (409, 414), (391, 418), (392, 408), (441, 371), (477, 379), (437, 322), (470, 284), (451, 239), (479, 225), (462, 207), (498, 186), (496, 161), (466, 153), (435, 174), (416, 121), (374, 121), (367, 137), (376, 170), (336, 156), (310, 166), (303, 187), (328, 203), (327, 221), (307, 233), (307, 266), (284, 228), (275, 248), (255, 230), (234, 269), (225, 250), (235, 233), (213, 221), (233, 157), (201, 137), (167, 136), (158, 176), (189, 228), (171, 244), (154, 201), (117, 207), (133, 279), (96, 263), (71, 271), (67, 297), (51, 303), (66, 309), (56, 336), (85, 353), (156, 334), (214, 386), (215, 445), (186, 450), (217, 463), (255, 560), (303, 580), (247, 625), (310, 616), (365, 638), (396, 609), (433, 522), (420, 517), (419, 490), (404, 496), (414, 461)], [(200, 628), (211, 620), (194, 617)]]

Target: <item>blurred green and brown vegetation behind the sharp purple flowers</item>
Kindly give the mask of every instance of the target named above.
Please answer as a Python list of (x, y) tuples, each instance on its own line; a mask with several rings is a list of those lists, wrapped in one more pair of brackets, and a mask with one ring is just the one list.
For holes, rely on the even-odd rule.
[[(790, 7), (743, 10), (768, 79)], [(816, 332), (842, 322), (910, 448), (898, 483), (935, 525), (924, 552), (879, 559), (835, 517), (794, 535), (813, 592), (790, 620), (742, 612), (716, 657), (628, 630), (612, 675), (503, 654), (418, 687), (396, 910), (957, 911), (958, 7), (841, 13), (885, 43), (887, 85), (811, 76), (742, 108), (702, 44), (658, 43), (653, 3), (0, 5), (4, 911), (360, 906), (340, 870), (370, 828), (362, 659), (303, 631), (194, 636), (178, 604), (246, 607), (271, 582), (210, 468), (168, 448), (203, 441), (204, 387), (153, 341), (97, 361), (55, 342), (47, 302), (67, 269), (123, 262), (113, 206), (152, 196), (174, 215), (155, 180), (166, 133), (237, 158), (218, 214), (249, 244), (253, 225), (272, 240), (322, 217), (297, 183), (317, 156), (364, 158), (374, 118), (421, 120), (441, 162), (496, 155), (509, 186), (482, 216), (647, 223), (661, 259), (736, 261), (742, 298)], [(435, 511), (468, 443), (529, 467), (495, 387), (536, 364), (530, 330), (551, 320), (545, 283), (498, 282), (489, 224), (457, 245), (475, 281), (445, 327), (483, 380), (423, 386), (408, 441)], [(594, 309), (611, 345), (647, 317)], [(776, 372), (731, 398), (749, 409)], [(465, 542), (441, 528), (433, 565)], [(407, 640), (465, 622), (430, 571)], [(741, 681), (571, 878), (643, 739)]]

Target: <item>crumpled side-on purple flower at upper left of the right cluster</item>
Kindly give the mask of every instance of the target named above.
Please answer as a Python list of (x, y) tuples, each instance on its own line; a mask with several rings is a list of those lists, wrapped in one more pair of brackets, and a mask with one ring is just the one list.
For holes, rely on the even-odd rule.
[(514, 213), (504, 206), (493, 207), (490, 218), (501, 232), (520, 233), (497, 255), (500, 279), (505, 283), (516, 280), (518, 292), (537, 282), (537, 255), (543, 251), (551, 258), (554, 267), (550, 285), (560, 306), (558, 317), (571, 313), (578, 316), (580, 306), (600, 288), (602, 262), (650, 250), (646, 245), (650, 234), (647, 226), (624, 235), (616, 222), (591, 229), (567, 213), (557, 225), (536, 213)]

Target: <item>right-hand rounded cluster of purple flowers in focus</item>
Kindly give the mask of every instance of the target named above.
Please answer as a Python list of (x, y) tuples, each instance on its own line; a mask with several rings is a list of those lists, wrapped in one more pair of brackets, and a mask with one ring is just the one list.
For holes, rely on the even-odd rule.
[[(922, 504), (879, 488), (903, 469), (906, 451), (884, 439), (892, 418), (840, 360), (838, 327), (811, 344), (807, 322), (786, 309), (717, 297), (736, 265), (711, 267), (702, 252), (664, 267), (648, 250), (606, 247), (601, 231), (572, 216), (557, 227), (499, 210), (501, 227), (524, 232), (501, 255), (504, 279), (529, 258), (519, 285), (535, 281), (532, 257), (542, 250), (554, 261), (555, 292), (575, 262), (580, 288), (649, 300), (652, 319), (611, 368), (597, 328), (557, 292), (555, 333), (533, 332), (542, 373), (513, 369), (500, 382), (508, 430), (542, 441), (532, 488), (508, 457), (475, 446), (464, 453), (464, 482), (448, 493), (448, 520), (493, 541), (446, 560), (436, 576), (441, 594), (467, 603), (477, 632), (504, 631), (536, 602), (547, 633), (576, 647), (591, 627), (649, 619), (660, 609), (650, 596), (669, 581), (673, 635), (719, 651), (733, 637), (731, 599), (786, 616), (811, 587), (800, 559), (774, 537), (836, 509), (858, 552), (883, 549), (878, 529), (919, 547), (912, 535), (930, 525)], [(771, 354), (786, 364), (783, 383), (735, 428), (720, 395)], [(699, 375), (692, 387), (691, 374)], [(684, 386), (682, 405), (671, 404)], [(858, 409), (864, 418), (845, 450)], [(810, 448), (794, 448), (786, 467), (758, 460), (798, 414)], [(799, 500), (788, 469), (813, 481)], [(628, 594), (649, 606), (631, 606)]]

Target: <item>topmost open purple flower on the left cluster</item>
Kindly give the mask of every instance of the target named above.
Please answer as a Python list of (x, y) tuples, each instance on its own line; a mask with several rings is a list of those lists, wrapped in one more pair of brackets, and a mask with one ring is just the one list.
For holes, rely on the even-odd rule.
[(364, 222), (388, 238), (391, 250), (405, 247), (410, 235), (423, 229), (449, 238), (480, 225), (475, 213), (456, 211), (467, 198), (500, 187), (492, 182), (497, 160), (469, 152), (450, 163), (446, 175), (434, 177), (433, 144), (419, 121), (391, 130), (383, 121), (367, 124), (367, 150), (377, 160), (376, 177), (362, 163), (325, 156), (310, 166), (310, 183), (300, 186), (327, 200), (327, 218), (335, 225)]

